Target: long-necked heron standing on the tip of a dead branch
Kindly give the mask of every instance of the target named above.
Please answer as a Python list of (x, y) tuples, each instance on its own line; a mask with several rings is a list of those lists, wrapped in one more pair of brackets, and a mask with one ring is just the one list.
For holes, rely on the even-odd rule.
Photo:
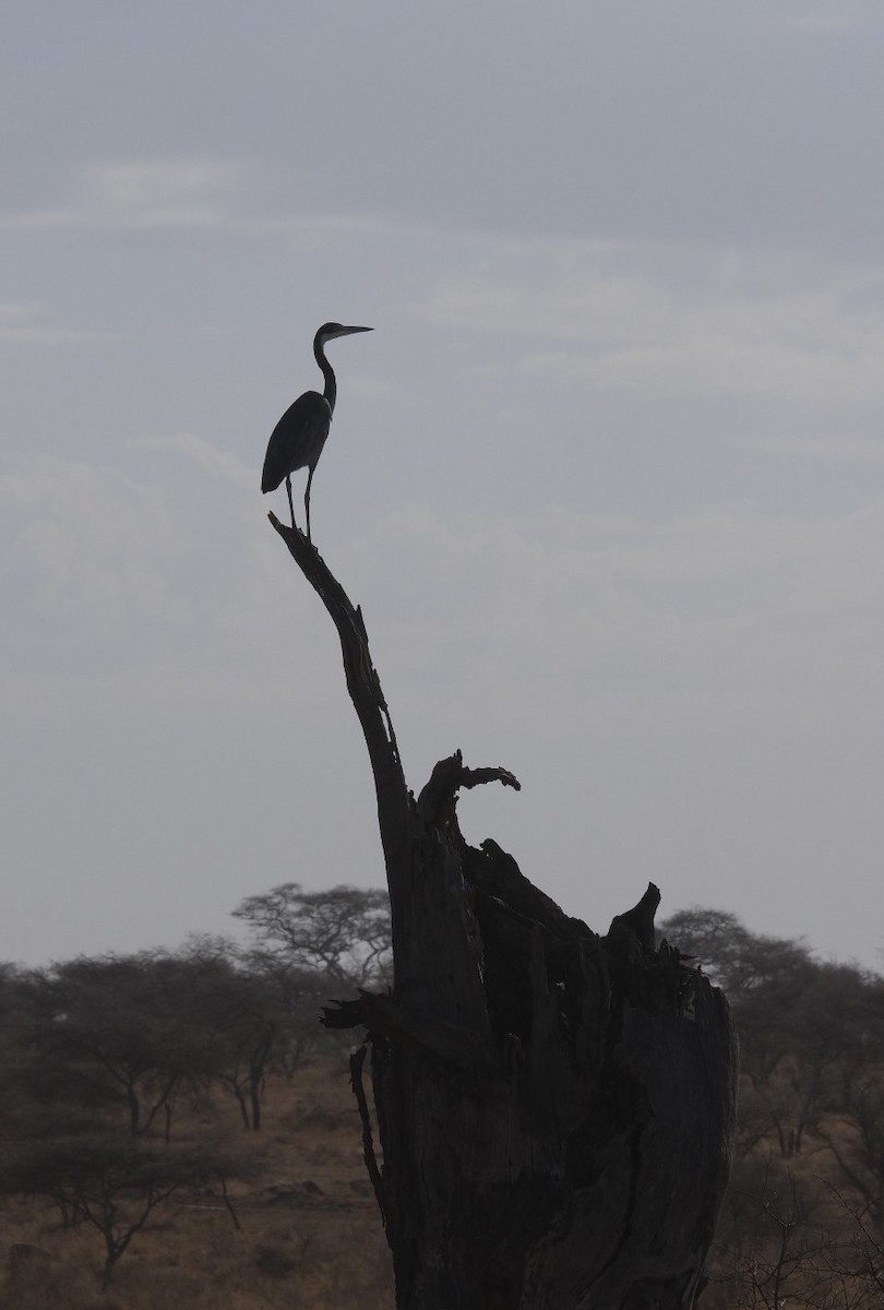
[(306, 540), (310, 540), (310, 482), (322, 455), (322, 447), (329, 436), (338, 384), (334, 369), (325, 358), (326, 342), (335, 337), (348, 337), (354, 331), (372, 331), (371, 328), (344, 328), (343, 324), (322, 324), (313, 338), (313, 355), (325, 377), (325, 390), (304, 392), (288, 406), (274, 428), (267, 443), (265, 469), (261, 474), (261, 490), (275, 491), (285, 479), (288, 508), (292, 512), (292, 532), (295, 532), (295, 506), (292, 503), (292, 473), (296, 469), (309, 469), (304, 510), (306, 512)]

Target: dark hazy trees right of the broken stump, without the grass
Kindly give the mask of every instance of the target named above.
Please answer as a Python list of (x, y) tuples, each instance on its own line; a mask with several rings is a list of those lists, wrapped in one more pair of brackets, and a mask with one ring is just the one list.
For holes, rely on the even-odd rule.
[(727, 992), (740, 1035), (737, 1146), (824, 1151), (884, 1225), (884, 980), (693, 907), (661, 934)]

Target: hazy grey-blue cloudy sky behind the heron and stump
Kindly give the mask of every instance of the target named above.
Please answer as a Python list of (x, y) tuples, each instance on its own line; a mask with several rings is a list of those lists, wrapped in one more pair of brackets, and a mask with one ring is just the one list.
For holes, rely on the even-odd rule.
[(0, 959), (382, 884), (259, 491), (338, 320), (313, 538), (410, 786), (511, 769), (464, 832), (599, 931), (884, 968), (880, 0), (4, 13)]

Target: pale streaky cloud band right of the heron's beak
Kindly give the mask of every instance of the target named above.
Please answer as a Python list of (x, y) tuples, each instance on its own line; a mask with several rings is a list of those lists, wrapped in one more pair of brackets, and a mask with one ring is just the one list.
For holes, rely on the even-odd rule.
[[(549, 385), (884, 402), (884, 269), (680, 245), (502, 242), (428, 295), (435, 324), (525, 341)], [(541, 345), (543, 343), (543, 345)]]

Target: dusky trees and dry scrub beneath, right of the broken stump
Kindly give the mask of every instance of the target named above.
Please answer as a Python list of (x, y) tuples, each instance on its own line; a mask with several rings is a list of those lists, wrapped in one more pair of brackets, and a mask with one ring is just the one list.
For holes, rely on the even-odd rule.
[(740, 1039), (731, 1186), (703, 1305), (884, 1303), (884, 979), (693, 908), (660, 925)]

